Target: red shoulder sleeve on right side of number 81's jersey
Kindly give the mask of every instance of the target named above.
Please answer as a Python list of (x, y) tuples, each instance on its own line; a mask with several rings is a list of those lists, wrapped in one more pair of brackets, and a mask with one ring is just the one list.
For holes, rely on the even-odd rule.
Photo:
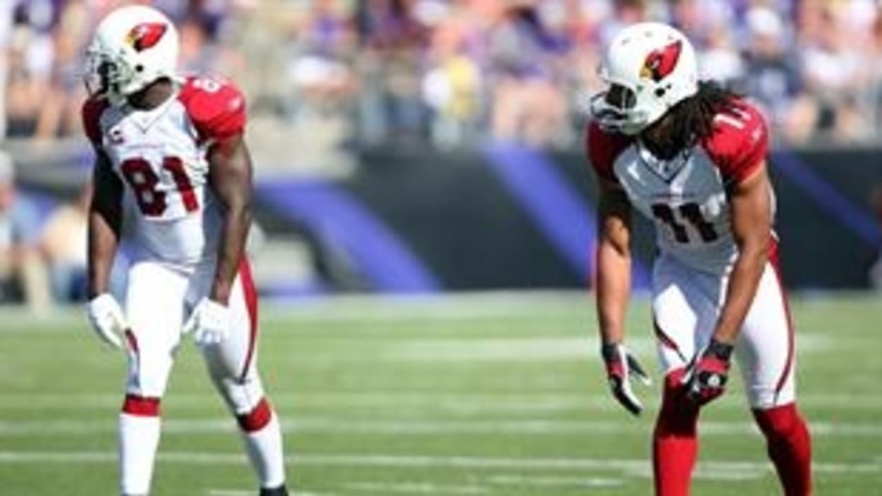
[(187, 78), (178, 94), (199, 138), (225, 139), (245, 130), (245, 97), (225, 79)]

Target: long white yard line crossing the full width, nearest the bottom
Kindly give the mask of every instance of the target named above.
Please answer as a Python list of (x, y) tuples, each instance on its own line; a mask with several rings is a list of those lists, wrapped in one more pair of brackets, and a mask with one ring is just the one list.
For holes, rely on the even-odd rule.
[[(163, 452), (161, 462), (184, 465), (232, 465), (246, 463), (245, 455), (214, 452)], [(615, 458), (506, 458), (445, 455), (288, 455), (286, 462), (294, 466), (316, 467), (393, 467), (464, 470), (596, 470), (613, 471), (627, 476), (648, 477), (650, 462), (642, 459)], [(0, 463), (116, 463), (112, 451), (0, 451)], [(821, 474), (882, 473), (882, 462), (814, 462), (813, 470)], [(772, 470), (768, 462), (729, 460), (699, 462), (697, 477), (717, 478), (731, 474), (759, 474)], [(523, 475), (523, 474), (521, 474)], [(530, 476), (532, 477), (532, 476)]]

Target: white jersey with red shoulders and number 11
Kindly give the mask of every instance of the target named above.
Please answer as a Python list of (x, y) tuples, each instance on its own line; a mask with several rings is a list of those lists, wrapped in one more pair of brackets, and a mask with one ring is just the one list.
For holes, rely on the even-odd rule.
[(654, 222), (659, 250), (712, 274), (727, 274), (738, 252), (730, 188), (765, 163), (767, 143), (765, 121), (747, 103), (716, 116), (711, 136), (669, 161), (597, 124), (587, 132), (594, 170), (620, 185), (632, 206)]

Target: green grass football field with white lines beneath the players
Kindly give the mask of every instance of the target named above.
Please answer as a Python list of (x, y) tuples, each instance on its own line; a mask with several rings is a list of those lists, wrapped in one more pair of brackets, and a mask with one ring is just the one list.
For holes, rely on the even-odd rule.
[[(816, 493), (882, 494), (882, 301), (793, 304)], [(654, 365), (647, 304), (632, 308), (632, 348)], [(586, 295), (332, 299), (265, 306), (262, 320), (296, 494), (651, 493), (658, 388), (639, 390), (649, 411), (637, 419), (607, 395)], [(0, 494), (116, 493), (122, 354), (78, 309), (42, 321), (7, 310), (0, 358)], [(163, 408), (155, 495), (256, 492), (189, 340)], [(740, 380), (702, 432), (696, 495), (780, 493)]]

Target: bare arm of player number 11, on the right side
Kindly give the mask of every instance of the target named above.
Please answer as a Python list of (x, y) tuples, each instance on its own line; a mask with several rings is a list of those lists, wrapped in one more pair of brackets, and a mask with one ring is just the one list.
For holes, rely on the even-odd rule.
[(734, 344), (756, 295), (772, 240), (772, 213), (766, 164), (736, 184), (731, 192), (732, 234), (738, 256), (714, 329), (717, 342)]

